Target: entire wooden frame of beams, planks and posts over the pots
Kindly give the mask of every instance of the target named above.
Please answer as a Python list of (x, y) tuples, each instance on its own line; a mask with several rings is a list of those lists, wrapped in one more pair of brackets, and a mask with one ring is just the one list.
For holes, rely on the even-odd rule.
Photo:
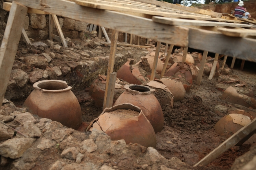
[[(197, 78), (198, 85), (202, 79), (208, 51), (216, 53), (213, 64), (214, 69), (212, 69), (214, 71), (210, 73), (209, 79), (214, 76), (215, 64), (217, 64), (219, 54), (225, 55), (225, 60), (227, 56), (231, 56), (256, 62), (256, 57), (254, 57), (256, 55), (256, 40), (252, 37), (256, 35), (256, 30), (254, 30), (256, 22), (254, 20), (238, 20), (226, 14), (223, 15), (209, 10), (184, 7), (156, 0), (16, 0), (11, 5), (6, 31), (0, 48), (1, 102), (6, 92), (27, 12), (51, 15), (49, 25), (52, 26), (53, 20), (57, 28), (58, 20), (56, 20), (56, 15), (60, 15), (91, 23), (90, 29), (93, 29), (94, 24), (95, 26), (100, 26), (103, 32), (104, 27), (113, 30), (104, 107), (110, 107), (112, 105), (111, 101), (113, 102), (113, 86), (115, 86), (114, 80), (116, 76), (113, 73), (113, 66), (118, 31), (129, 33), (131, 35), (130, 42), (132, 35), (158, 41), (150, 80), (154, 80), (161, 42), (171, 44), (167, 54), (168, 59), (171, 56), (170, 51), (174, 45), (183, 48), (182, 61), (186, 60), (188, 47), (204, 50)], [(52, 27), (50, 27), (49, 38), (53, 37)], [(63, 46), (67, 45), (65, 44), (66, 41), (63, 40), (64, 37), (60, 35), (59, 38)], [(167, 62), (168, 60), (165, 61), (164, 68), (166, 68)], [(162, 72), (164, 73), (164, 71)], [(208, 158), (204, 158), (207, 161), (202, 160), (196, 165), (207, 165), (213, 158), (224, 152), (223, 150), (227, 149), (227, 147), (239, 143), (239, 141), (243, 143), (248, 136), (255, 132), (255, 122), (256, 120), (232, 135), (219, 148), (216, 148), (212, 152), (214, 156), (208, 156)], [(228, 141), (234, 139), (236, 139), (235, 142), (233, 141), (226, 145)], [(225, 146), (224, 149), (223, 146)], [(210, 155), (212, 154), (210, 153)]]

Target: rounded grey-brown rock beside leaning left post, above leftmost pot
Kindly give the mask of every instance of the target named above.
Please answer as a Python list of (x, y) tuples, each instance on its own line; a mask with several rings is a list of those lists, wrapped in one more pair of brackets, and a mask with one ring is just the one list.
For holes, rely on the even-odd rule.
[(25, 71), (21, 69), (14, 69), (11, 71), (11, 77), (13, 80), (15, 80), (17, 86), (23, 87), (25, 84), (27, 84), (29, 77)]

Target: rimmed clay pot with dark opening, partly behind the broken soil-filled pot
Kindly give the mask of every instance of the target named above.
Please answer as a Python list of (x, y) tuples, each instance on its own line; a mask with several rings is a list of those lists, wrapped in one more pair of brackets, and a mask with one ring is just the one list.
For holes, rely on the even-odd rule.
[(163, 111), (160, 103), (154, 96), (154, 89), (141, 85), (125, 85), (124, 93), (120, 95), (114, 105), (131, 103), (141, 108), (148, 121), (152, 124), (155, 132), (163, 128)]

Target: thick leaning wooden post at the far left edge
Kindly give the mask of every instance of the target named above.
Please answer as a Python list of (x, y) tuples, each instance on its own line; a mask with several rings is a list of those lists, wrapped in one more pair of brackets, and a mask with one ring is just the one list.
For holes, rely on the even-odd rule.
[(0, 48), (0, 106), (6, 93), (28, 8), (13, 1)]

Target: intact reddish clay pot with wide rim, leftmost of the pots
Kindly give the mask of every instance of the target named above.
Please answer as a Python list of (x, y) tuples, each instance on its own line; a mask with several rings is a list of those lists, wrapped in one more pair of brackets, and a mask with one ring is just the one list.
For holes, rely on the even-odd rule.
[(51, 119), (78, 129), (82, 122), (82, 112), (76, 96), (67, 82), (43, 80), (33, 84), (35, 90), (28, 96), (23, 107), (39, 117)]

